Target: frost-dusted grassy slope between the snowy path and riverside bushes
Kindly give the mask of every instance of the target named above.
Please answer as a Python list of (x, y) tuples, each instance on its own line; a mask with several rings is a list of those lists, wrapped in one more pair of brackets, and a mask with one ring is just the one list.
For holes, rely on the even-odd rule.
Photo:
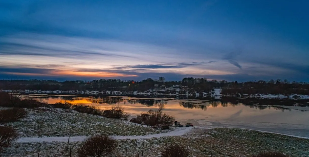
[(27, 111), (29, 114), (26, 118), (8, 123), (9, 126), (19, 131), (21, 137), (89, 136), (93, 134), (132, 136), (168, 131), (61, 108), (36, 108), (27, 109)]

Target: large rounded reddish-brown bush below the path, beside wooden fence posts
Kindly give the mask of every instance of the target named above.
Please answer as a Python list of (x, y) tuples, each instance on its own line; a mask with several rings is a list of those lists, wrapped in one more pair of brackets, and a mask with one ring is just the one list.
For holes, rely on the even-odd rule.
[(117, 146), (117, 141), (108, 135), (94, 135), (82, 142), (79, 157), (103, 157), (110, 155)]

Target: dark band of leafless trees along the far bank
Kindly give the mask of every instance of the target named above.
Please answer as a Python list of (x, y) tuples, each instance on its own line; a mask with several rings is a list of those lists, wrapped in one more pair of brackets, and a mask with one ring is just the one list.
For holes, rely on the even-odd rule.
[(228, 82), (225, 80), (207, 80), (206, 78), (183, 78), (181, 81), (165, 81), (164, 77), (159, 79), (147, 78), (142, 81), (99, 79), (92, 81), (64, 81), (55, 80), (0, 80), (0, 89), (22, 89), (42, 91), (147, 91), (149, 89), (165, 89), (179, 85), (184, 91), (209, 92), (213, 88), (222, 88), (223, 95), (243, 94), (304, 94), (309, 95), (309, 83), (289, 82), (288, 80), (258, 80), (248, 82)]

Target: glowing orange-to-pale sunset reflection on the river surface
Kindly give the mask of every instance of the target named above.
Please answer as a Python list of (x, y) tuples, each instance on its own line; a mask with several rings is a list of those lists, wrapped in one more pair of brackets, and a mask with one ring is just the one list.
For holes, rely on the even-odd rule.
[(49, 104), (67, 101), (71, 104), (96, 105), (100, 109), (119, 105), (129, 113), (147, 112), (152, 108), (164, 108), (164, 112), (177, 119), (205, 119), (210, 121), (251, 121), (269, 123), (289, 123), (309, 125), (308, 112), (285, 110), (280, 107), (249, 106), (241, 103), (207, 101), (207, 100), (160, 100), (130, 99), (129, 97), (49, 97), (38, 98)]

